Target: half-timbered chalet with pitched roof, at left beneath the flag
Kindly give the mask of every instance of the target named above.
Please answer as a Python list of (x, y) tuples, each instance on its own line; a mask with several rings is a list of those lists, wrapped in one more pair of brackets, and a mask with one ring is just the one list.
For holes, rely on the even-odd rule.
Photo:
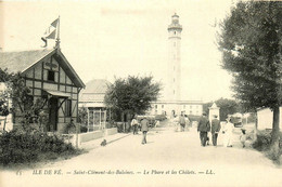
[[(59, 48), (22, 52), (1, 52), (0, 67), (9, 72), (20, 72), (30, 89), (30, 101), (41, 97), (48, 112), (47, 131), (65, 132), (65, 126), (77, 121), (78, 94), (84, 82)], [(21, 112), (13, 113), (17, 125)]]

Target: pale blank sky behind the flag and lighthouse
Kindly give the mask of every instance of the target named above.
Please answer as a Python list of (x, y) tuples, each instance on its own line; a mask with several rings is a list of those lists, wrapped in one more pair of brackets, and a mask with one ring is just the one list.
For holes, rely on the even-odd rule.
[(162, 82), (167, 76), (167, 26), (177, 13), (183, 27), (182, 99), (232, 98), (232, 78), (220, 67), (216, 44), (218, 23), (231, 5), (231, 0), (4, 1), (0, 2), (0, 48), (42, 49), (40, 38), (60, 15), (62, 52), (85, 83), (113, 82), (129, 75), (152, 75)]

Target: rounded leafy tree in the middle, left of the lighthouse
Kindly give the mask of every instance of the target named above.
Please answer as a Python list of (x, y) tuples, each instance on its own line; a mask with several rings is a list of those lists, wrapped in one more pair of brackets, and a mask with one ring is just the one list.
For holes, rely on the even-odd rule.
[(108, 85), (104, 103), (114, 112), (144, 113), (159, 91), (161, 83), (154, 82), (152, 76), (118, 78)]

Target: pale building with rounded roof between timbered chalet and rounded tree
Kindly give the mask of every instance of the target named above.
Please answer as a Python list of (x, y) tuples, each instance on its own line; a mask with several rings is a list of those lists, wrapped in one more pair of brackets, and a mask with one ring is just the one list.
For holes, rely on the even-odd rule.
[(104, 96), (110, 82), (104, 79), (94, 79), (86, 84), (80, 93), (79, 107), (85, 107), (88, 112), (88, 131), (105, 126), (106, 107)]

